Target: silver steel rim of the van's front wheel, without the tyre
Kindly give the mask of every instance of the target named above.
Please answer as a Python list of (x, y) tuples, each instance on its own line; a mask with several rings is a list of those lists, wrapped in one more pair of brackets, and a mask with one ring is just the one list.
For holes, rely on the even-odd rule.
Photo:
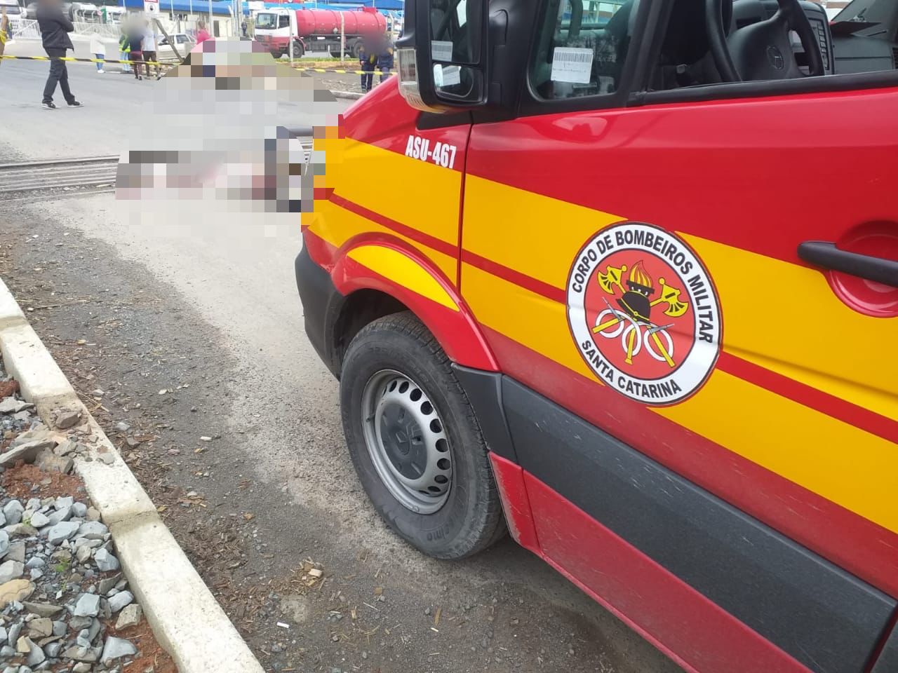
[(408, 376), (381, 370), (362, 393), (365, 446), (387, 490), (403, 507), (433, 514), (452, 487), (452, 455), (443, 419)]

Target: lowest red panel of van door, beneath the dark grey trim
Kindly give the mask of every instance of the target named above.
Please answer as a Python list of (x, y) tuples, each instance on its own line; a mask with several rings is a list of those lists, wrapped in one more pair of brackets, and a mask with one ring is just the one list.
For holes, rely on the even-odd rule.
[(684, 669), (807, 673), (549, 486), (527, 473), (524, 483), (543, 557)]

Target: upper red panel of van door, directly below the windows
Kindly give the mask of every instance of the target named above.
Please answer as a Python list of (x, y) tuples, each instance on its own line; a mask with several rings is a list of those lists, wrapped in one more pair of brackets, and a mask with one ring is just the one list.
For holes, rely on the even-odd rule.
[[(898, 89), (884, 89), (518, 118), (474, 127), (468, 170), (804, 264), (799, 240), (894, 222), (880, 204), (885, 186), (898, 184), (895, 109)], [(814, 133), (803, 133), (812, 119)], [(550, 157), (564, 157), (569, 170)], [(881, 178), (851, 169), (861, 166)], [(809, 202), (819, 217), (807, 216)]]

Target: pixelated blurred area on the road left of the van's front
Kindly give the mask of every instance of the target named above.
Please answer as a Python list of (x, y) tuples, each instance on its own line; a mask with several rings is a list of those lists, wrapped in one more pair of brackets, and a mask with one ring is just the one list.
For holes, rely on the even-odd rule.
[(167, 206), (175, 218), (309, 213), (324, 175), (313, 138), (339, 135), (338, 110), (330, 91), (258, 42), (209, 39), (163, 77), (155, 123), (119, 162), (116, 198), (138, 217)]

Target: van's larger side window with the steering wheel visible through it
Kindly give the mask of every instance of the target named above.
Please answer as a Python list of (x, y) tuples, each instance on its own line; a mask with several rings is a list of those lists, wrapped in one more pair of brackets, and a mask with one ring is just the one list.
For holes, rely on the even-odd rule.
[(790, 11), (778, 0), (733, 0), (718, 23), (706, 21), (705, 0), (674, 0), (650, 89), (811, 75), (826, 88), (832, 75), (898, 67), (895, 0), (854, 0), (841, 11), (805, 0), (783, 4)]

